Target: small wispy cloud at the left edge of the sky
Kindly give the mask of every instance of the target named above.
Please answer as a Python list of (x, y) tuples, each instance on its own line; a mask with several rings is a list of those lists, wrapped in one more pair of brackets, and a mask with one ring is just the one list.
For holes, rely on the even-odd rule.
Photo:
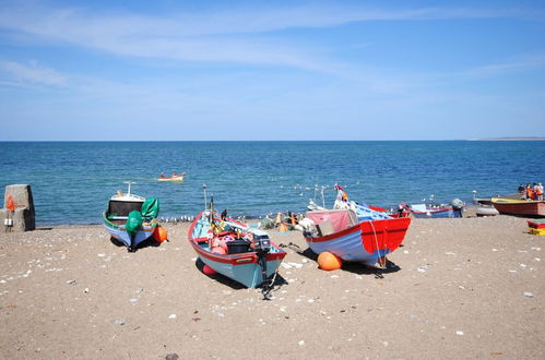
[(54, 69), (31, 62), (28, 64), (0, 60), (0, 71), (4, 72), (15, 82), (3, 82), (8, 85), (32, 83), (42, 85), (62, 86), (67, 84), (67, 77)]

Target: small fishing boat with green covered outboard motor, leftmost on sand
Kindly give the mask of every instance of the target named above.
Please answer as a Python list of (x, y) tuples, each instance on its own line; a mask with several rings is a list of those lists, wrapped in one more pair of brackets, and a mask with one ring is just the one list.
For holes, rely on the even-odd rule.
[[(108, 207), (103, 213), (103, 223), (111, 237), (132, 252), (141, 242), (154, 236), (161, 226), (157, 221), (159, 202), (156, 197), (144, 199), (132, 194), (133, 182), (126, 183), (127, 193), (118, 191), (108, 201)], [(158, 236), (156, 238), (161, 241)]]

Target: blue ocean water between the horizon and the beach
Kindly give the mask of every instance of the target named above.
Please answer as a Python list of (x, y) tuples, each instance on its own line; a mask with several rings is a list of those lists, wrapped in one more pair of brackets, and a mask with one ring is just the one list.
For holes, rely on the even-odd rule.
[[(161, 216), (196, 215), (206, 195), (229, 214), (304, 212), (315, 187), (333, 184), (377, 206), (513, 193), (545, 181), (542, 141), (412, 142), (0, 142), (0, 187), (29, 183), (37, 225), (99, 224), (123, 181), (156, 196)], [(183, 183), (161, 172), (187, 171)], [(317, 202), (321, 204), (321, 197)]]

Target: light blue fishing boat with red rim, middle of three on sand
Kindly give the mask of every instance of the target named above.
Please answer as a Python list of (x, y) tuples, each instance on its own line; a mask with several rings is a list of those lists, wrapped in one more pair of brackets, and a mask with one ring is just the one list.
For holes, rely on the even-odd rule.
[[(211, 206), (212, 207), (212, 206)], [(248, 288), (272, 287), (286, 252), (259, 229), (206, 209), (196, 216), (188, 240), (201, 261), (213, 271)], [(266, 296), (266, 295), (265, 295)]]

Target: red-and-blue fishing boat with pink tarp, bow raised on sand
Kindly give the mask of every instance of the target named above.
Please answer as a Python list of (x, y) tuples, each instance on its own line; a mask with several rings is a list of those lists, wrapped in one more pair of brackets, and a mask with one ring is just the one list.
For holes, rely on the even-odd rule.
[(341, 187), (333, 209), (308, 212), (300, 221), (304, 237), (317, 254), (330, 252), (343, 261), (384, 267), (386, 255), (403, 242), (410, 217), (393, 218), (347, 200)]

